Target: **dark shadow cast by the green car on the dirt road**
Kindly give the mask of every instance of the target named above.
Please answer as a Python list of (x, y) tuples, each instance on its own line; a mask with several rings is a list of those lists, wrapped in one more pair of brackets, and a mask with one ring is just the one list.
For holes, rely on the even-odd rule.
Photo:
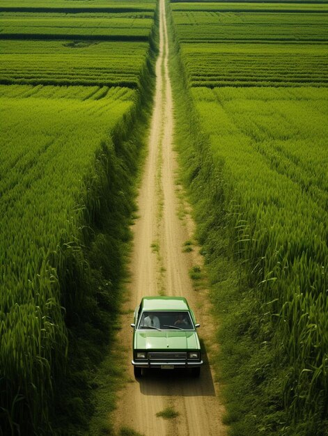
[(141, 394), (148, 396), (215, 396), (208, 355), (202, 344), (203, 365), (200, 377), (187, 369), (145, 369), (136, 379)]

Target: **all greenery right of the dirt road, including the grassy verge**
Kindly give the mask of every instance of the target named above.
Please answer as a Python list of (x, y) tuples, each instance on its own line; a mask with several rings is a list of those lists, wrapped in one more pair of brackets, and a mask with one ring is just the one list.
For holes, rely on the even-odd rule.
[[(315, 41), (309, 5), (297, 5), (308, 45), (274, 42), (288, 20), (297, 35), (300, 15), (267, 14), (268, 44), (264, 15), (245, 17), (247, 3), (238, 26), (236, 14), (220, 18), (233, 22), (224, 32), (220, 15), (183, 19), (177, 5), (176, 142), (222, 324), (226, 423), (236, 436), (327, 435), (327, 45)], [(215, 45), (199, 43), (206, 19)], [(237, 28), (256, 43), (232, 42)]]

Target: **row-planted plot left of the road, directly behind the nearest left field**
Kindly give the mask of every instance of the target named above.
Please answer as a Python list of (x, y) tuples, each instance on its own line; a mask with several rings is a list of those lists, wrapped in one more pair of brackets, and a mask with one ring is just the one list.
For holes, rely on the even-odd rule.
[(3, 41), (0, 81), (138, 86), (147, 42)]

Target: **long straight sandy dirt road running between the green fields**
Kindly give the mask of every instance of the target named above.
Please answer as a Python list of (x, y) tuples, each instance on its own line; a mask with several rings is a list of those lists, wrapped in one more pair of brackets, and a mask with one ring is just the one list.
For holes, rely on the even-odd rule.
[[(160, 0), (159, 35), (155, 108), (138, 198), (140, 217), (134, 226), (130, 301), (126, 309), (134, 309), (144, 295), (184, 295), (203, 325), (199, 334), (210, 358), (214, 327), (205, 303), (206, 291), (195, 291), (189, 278), (189, 269), (200, 264), (201, 259), (196, 251), (182, 251), (183, 244), (192, 238), (193, 223), (186, 213), (178, 217), (182, 204), (177, 196), (180, 187), (175, 184), (177, 164), (173, 152), (173, 100), (164, 0)], [(186, 207), (184, 210), (186, 212)], [(225, 435), (226, 429), (221, 423), (223, 407), (217, 398), (219, 387), (208, 363), (203, 366), (199, 380), (161, 371), (134, 380), (130, 364), (130, 322), (132, 314), (123, 316), (123, 329), (119, 334), (119, 341), (125, 346), (126, 371), (131, 382), (118, 393), (118, 409), (114, 414), (117, 433), (125, 426), (145, 436)], [(156, 416), (169, 405), (179, 412), (177, 418), (164, 420)]]

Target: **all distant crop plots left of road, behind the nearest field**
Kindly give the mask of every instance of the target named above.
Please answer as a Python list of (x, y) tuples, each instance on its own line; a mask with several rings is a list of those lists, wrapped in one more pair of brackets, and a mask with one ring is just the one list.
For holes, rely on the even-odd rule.
[(155, 49), (153, 6), (134, 13), (1, 13), (0, 83), (138, 88)]

